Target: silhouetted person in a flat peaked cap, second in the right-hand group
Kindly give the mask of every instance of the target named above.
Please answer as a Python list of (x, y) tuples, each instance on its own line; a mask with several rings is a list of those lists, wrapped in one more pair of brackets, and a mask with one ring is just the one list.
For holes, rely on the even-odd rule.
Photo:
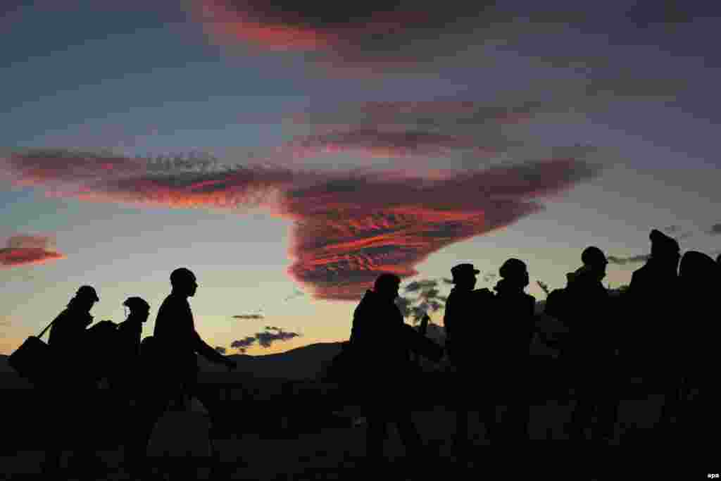
[[(487, 309), (482, 306), (482, 296), (474, 291), (476, 275), (480, 271), (473, 264), (464, 262), (451, 268), (451, 282), (454, 287), (448, 294), (446, 309), (443, 314), (443, 330), (446, 331), (446, 352), (451, 365), (454, 367), (454, 381), (452, 382), (451, 404), (456, 409), (456, 436), (454, 447), (459, 459), (465, 459), (469, 454), (469, 406), (476, 405), (474, 399), (469, 399), (470, 393), (477, 389), (478, 376), (478, 342), (479, 320), (478, 312)], [(492, 299), (492, 293), (485, 291), (487, 299)], [(486, 303), (487, 304), (487, 303)], [(485, 397), (486, 392), (482, 395)], [(487, 399), (487, 397), (485, 397)], [(488, 409), (486, 407), (486, 409)], [(491, 408), (494, 412), (495, 405)], [(486, 423), (486, 429), (490, 425)]]

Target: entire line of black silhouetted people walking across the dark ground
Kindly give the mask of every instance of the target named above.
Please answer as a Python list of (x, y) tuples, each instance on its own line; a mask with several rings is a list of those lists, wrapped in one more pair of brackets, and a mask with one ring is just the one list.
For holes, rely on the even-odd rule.
[[(383, 459), (389, 425), (413, 459), (428, 449), (412, 420), (408, 383), (416, 379), (417, 359), (446, 360), (451, 389), (445, 393), (456, 412), (454, 446), (458, 459), (471, 454), (469, 413), (477, 413), (492, 444), (528, 441), (531, 396), (539, 375), (548, 384), (565, 385), (575, 402), (570, 420), (572, 441), (607, 443), (614, 438), (619, 404), (629, 380), (640, 379), (646, 391), (663, 395), (658, 429), (642, 432), (646, 443), (692, 439), (704, 427), (717, 428), (720, 401), (715, 379), (719, 325), (715, 294), (721, 279), (721, 255), (681, 255), (676, 239), (653, 229), (650, 256), (618, 296), (603, 286), (609, 261), (601, 249), (587, 247), (581, 266), (567, 273), (567, 285), (547, 291), (544, 313), (564, 327), (562, 335), (543, 337), (557, 351), (556, 361), (540, 372), (529, 347), (539, 336), (536, 299), (526, 294), (525, 262), (506, 260), (493, 290), (475, 288), (479, 270), (471, 263), (451, 269), (454, 287), (443, 317), (443, 346), (404, 323), (399, 306), (399, 276), (379, 275), (353, 312), (350, 340), (333, 360), (328, 380), (340, 384), (345, 400), (363, 405), (367, 419), (366, 454), (371, 465)], [(169, 405), (182, 405), (198, 392), (197, 354), (234, 369), (234, 361), (205, 343), (195, 330), (187, 298), (198, 288), (195, 275), (179, 268), (170, 275), (172, 291), (159, 307), (154, 332), (141, 342), (150, 312), (140, 297), (123, 305), (128, 318), (115, 325), (92, 324), (90, 309), (99, 301), (82, 286), (53, 322), (49, 345), (58, 375), (41, 386), (48, 396), (65, 395), (51, 416), (47, 472), (58, 469), (63, 446), (71, 444), (79, 463), (91, 466), (92, 421), (85, 407), (96, 399), (97, 381), (107, 379), (115, 412), (133, 420), (123, 431), (131, 470), (146, 469), (146, 446), (154, 424)], [(88, 345), (102, 345), (87, 358)], [(61, 374), (62, 373), (62, 374)], [(497, 422), (497, 406), (506, 406)], [(630, 438), (629, 438), (630, 439)]]

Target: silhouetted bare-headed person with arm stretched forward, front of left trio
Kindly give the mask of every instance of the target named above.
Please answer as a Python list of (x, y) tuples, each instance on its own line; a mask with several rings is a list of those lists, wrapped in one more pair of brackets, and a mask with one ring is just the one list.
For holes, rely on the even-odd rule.
[(155, 379), (154, 391), (146, 395), (139, 414), (141, 441), (137, 449), (141, 459), (154, 424), (167, 406), (182, 404), (183, 400), (198, 394), (195, 353), (213, 363), (224, 364), (228, 369), (235, 367), (235, 361), (218, 353), (195, 331), (193, 312), (187, 301), (198, 289), (195, 275), (186, 268), (178, 268), (170, 274), (170, 283), (172, 291), (158, 309), (151, 344), (151, 357), (157, 364), (149, 367), (161, 377)]

